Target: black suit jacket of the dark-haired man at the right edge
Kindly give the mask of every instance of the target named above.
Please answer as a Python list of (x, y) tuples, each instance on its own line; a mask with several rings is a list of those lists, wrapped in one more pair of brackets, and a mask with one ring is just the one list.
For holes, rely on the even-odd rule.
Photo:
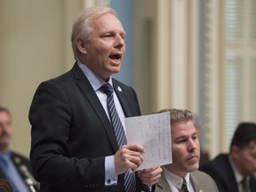
[[(235, 174), (228, 160), (228, 154), (220, 154), (211, 162), (199, 168), (215, 180), (220, 192), (238, 192)], [(256, 191), (256, 180), (250, 177), (251, 191)]]

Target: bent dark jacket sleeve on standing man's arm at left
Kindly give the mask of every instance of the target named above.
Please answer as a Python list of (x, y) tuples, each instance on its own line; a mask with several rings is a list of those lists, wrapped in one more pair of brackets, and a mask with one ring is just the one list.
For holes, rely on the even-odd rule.
[[(32, 124), (30, 159), (37, 180), (64, 186), (82, 186), (83, 183), (95, 182), (92, 178), (102, 178), (97, 183), (102, 185), (104, 156), (92, 160), (78, 159), (68, 154), (71, 154), (68, 148), (72, 148), (68, 143), (76, 146), (76, 141), (71, 142), (73, 139), (70, 138), (70, 129), (75, 123), (72, 116), (75, 115), (72, 114), (67, 95), (57, 84), (47, 82), (38, 87), (29, 116)], [(79, 131), (77, 127), (72, 128)]]

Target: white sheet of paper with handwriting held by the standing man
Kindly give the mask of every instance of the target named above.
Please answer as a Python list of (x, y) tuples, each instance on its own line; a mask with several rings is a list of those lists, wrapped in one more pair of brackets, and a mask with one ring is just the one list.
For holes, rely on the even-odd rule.
[(136, 170), (172, 164), (170, 112), (124, 119), (127, 142), (141, 144), (146, 152)]

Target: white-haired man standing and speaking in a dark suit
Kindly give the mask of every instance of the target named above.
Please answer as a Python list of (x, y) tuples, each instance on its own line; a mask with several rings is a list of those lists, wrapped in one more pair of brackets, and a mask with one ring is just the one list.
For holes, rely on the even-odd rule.
[[(132, 87), (111, 77), (121, 66), (124, 36), (114, 10), (81, 12), (71, 36), (75, 66), (37, 88), (29, 111), (30, 159), (41, 191), (124, 192), (124, 175), (142, 163), (141, 145), (118, 146), (108, 96), (101, 89), (103, 84), (113, 86), (116, 118), (123, 126), (124, 117), (140, 116)], [(137, 189), (126, 192), (154, 189), (161, 172), (160, 167), (136, 172)]]

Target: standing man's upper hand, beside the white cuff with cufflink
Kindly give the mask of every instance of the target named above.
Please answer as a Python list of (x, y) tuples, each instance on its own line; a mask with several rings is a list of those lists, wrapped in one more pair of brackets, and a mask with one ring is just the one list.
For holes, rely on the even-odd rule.
[(143, 146), (135, 143), (119, 148), (114, 156), (116, 174), (122, 174), (129, 169), (135, 171), (143, 162), (144, 152)]

